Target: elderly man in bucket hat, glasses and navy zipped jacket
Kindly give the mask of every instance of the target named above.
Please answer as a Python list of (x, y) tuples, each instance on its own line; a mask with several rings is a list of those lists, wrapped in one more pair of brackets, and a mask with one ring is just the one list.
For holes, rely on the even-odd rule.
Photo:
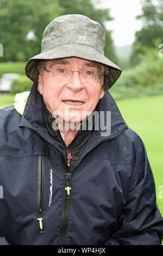
[(1, 110), (2, 243), (160, 245), (152, 171), (108, 92), (121, 69), (104, 46), (88, 17), (53, 20), (26, 66), (28, 100)]

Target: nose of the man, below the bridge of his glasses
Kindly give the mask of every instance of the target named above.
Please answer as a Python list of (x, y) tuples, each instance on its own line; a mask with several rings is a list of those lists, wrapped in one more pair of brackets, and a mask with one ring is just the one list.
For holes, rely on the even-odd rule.
[(81, 79), (81, 74), (79, 72), (72, 72), (71, 78), (67, 83), (67, 86), (73, 90), (73, 92), (79, 92), (84, 88), (84, 84)]

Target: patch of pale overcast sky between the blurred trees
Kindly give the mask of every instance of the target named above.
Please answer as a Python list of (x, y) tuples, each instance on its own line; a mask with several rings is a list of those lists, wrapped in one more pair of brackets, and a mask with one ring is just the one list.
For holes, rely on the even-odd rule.
[(116, 46), (130, 45), (134, 42), (134, 33), (139, 31), (142, 23), (135, 17), (142, 13), (140, 0), (102, 0), (103, 8), (110, 8), (113, 21), (107, 23), (112, 30)]

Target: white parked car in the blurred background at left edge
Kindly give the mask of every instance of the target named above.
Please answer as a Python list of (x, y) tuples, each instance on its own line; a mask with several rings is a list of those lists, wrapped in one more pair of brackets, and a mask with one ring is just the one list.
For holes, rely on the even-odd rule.
[(0, 92), (10, 92), (12, 80), (18, 78), (20, 74), (3, 74), (0, 79)]

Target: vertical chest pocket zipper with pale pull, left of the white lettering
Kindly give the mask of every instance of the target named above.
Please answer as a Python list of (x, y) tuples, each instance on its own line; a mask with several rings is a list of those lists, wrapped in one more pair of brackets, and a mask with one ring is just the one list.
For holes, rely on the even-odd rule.
[(40, 233), (43, 233), (43, 226), (42, 226), (42, 211), (43, 211), (43, 197), (44, 197), (44, 157), (43, 155), (39, 155), (39, 163), (38, 163), (38, 194), (37, 194), (37, 211), (38, 217), (37, 220), (39, 221), (40, 225)]

